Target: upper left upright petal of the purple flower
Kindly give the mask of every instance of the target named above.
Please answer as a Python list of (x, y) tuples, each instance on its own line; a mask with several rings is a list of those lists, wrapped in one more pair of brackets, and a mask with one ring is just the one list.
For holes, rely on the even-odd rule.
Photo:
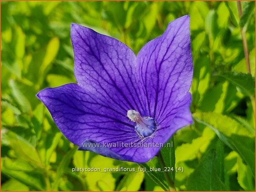
[(106, 104), (144, 113), (136, 56), (124, 43), (78, 24), (71, 26), (77, 83)]

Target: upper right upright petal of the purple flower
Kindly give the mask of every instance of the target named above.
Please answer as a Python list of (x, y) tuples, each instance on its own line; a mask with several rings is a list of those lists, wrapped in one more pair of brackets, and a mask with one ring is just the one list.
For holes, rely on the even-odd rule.
[(189, 16), (170, 22), (162, 36), (139, 52), (139, 75), (150, 116), (161, 121), (189, 91), (192, 81)]

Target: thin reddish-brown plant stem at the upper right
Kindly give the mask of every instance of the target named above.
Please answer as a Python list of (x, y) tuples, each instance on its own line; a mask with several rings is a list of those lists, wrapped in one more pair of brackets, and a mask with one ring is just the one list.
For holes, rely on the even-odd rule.
[[(241, 18), (243, 15), (243, 12), (242, 12), (242, 5), (241, 5), (240, 1), (237, 1), (237, 10), (238, 10), (239, 17)], [(240, 27), (240, 32), (241, 32), (241, 36), (242, 36), (244, 57), (245, 57), (247, 72), (251, 74), (249, 50), (248, 50), (248, 45), (247, 45), (247, 40), (246, 40), (246, 31), (243, 27)]]

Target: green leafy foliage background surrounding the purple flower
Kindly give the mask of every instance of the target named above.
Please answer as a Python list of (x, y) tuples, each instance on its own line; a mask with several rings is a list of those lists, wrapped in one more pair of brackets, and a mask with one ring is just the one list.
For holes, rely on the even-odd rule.
[[(242, 8), (239, 19), (236, 2), (1, 1), (2, 191), (166, 190), (163, 173), (72, 173), (73, 167), (139, 165), (78, 152), (35, 95), (75, 82), (72, 22), (115, 37), (138, 53), (185, 14), (191, 16), (194, 124), (174, 136), (175, 167), (184, 168), (175, 174), (175, 186), (255, 190), (255, 2), (242, 2)], [(241, 27), (246, 30), (251, 75), (246, 72)], [(156, 161), (141, 166), (158, 166)], [(174, 161), (165, 155), (165, 163)]]

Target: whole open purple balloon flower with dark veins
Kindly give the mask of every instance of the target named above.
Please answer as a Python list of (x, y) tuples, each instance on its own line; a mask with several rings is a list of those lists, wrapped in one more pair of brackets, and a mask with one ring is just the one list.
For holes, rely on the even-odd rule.
[(137, 56), (78, 24), (71, 40), (77, 84), (46, 88), (37, 97), (79, 150), (142, 163), (192, 123), (189, 16), (170, 22)]

